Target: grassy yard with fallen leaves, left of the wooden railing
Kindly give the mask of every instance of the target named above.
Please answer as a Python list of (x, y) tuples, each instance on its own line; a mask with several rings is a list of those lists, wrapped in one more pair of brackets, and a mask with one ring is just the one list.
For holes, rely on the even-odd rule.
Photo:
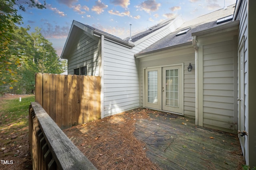
[(32, 169), (28, 144), (28, 107), (30, 102), (34, 102), (34, 95), (0, 97), (1, 170)]

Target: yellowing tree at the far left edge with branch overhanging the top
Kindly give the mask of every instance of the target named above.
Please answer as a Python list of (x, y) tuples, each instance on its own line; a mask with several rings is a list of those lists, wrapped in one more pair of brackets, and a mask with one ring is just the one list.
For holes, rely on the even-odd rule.
[(25, 6), (42, 9), (45, 8), (45, 1), (42, 5), (34, 0), (0, 0), (0, 86), (11, 85), (16, 81), (13, 77), (16, 67), (20, 65), (20, 57), (16, 55), (16, 51), (10, 50), (10, 46), (14, 43), (12, 33), (15, 24), (22, 21), (16, 7), (25, 11)]

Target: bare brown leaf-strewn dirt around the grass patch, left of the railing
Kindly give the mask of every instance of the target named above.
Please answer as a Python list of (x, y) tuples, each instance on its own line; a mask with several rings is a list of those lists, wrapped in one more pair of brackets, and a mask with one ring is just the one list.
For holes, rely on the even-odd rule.
[[(4, 100), (15, 99), (19, 97), (24, 97), (24, 95), (7, 94), (0, 97), (0, 124), (9, 121), (8, 119), (1, 119), (1, 117), (3, 117), (2, 115), (4, 114), (2, 111)], [(26, 117), (26, 119), (28, 120), (28, 117)], [(0, 129), (0, 169), (31, 170), (32, 161), (28, 144), (28, 126), (22, 129), (16, 129), (12, 126), (12, 123), (9, 123), (8, 127), (6, 128), (11, 129), (12, 133), (6, 134), (4, 133), (4, 129)]]

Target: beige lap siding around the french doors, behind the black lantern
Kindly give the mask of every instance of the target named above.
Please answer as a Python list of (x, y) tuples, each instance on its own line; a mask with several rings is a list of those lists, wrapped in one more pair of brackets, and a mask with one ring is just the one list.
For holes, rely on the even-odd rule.
[[(159, 66), (162, 67), (168, 64), (184, 63), (184, 115), (195, 117), (195, 51), (194, 48), (186, 49), (186, 54), (182, 51), (172, 54), (169, 52), (156, 55), (154, 60), (141, 61), (140, 66), (140, 106), (143, 106), (143, 68)], [(192, 64), (191, 72), (188, 72), (188, 65)]]

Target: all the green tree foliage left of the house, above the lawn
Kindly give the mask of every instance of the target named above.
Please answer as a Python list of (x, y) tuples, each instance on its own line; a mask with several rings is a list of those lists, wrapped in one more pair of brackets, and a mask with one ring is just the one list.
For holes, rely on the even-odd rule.
[(55, 49), (39, 28), (18, 27), (22, 21), (17, 7), (45, 8), (35, 0), (0, 0), (0, 94), (30, 94), (34, 91), (36, 72), (59, 74), (65, 69)]

